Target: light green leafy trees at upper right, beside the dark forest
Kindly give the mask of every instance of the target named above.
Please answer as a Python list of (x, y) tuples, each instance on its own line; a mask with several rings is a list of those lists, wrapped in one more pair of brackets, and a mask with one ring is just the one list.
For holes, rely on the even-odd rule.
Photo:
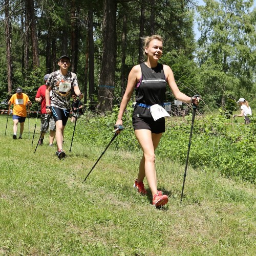
[(198, 80), (212, 108), (222, 107), (228, 95), (255, 95), (255, 8), (253, 1), (205, 0), (198, 8)]

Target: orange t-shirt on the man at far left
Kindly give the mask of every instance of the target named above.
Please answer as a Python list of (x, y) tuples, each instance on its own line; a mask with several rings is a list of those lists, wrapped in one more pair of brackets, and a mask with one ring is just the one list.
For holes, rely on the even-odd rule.
[(13, 104), (13, 115), (27, 117), (26, 104), (29, 102), (29, 96), (25, 93), (18, 95), (17, 93), (13, 94), (9, 102)]

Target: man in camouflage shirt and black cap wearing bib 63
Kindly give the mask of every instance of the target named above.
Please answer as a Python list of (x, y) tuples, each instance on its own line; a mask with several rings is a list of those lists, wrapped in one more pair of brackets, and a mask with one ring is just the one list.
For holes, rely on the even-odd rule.
[[(47, 114), (53, 113), (53, 118), (56, 125), (56, 155), (59, 159), (61, 159), (66, 156), (65, 151), (62, 149), (62, 144), (63, 133), (71, 108), (71, 92), (74, 90), (75, 94), (80, 99), (83, 97), (83, 95), (79, 90), (76, 74), (68, 70), (71, 65), (70, 58), (67, 55), (61, 56), (59, 58), (58, 65), (59, 70), (52, 72), (46, 82), (46, 112)], [(52, 96), (50, 104), (51, 91)]]

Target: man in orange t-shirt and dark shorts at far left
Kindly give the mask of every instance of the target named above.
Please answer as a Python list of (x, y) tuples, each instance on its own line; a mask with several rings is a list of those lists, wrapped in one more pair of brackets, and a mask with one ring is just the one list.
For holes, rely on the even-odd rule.
[(14, 140), (17, 139), (17, 129), (18, 123), (20, 124), (19, 127), (19, 139), (22, 139), (22, 134), (24, 131), (24, 123), (27, 117), (27, 109), (26, 106), (31, 106), (32, 103), (29, 99), (29, 96), (22, 92), (21, 87), (16, 88), (16, 93), (13, 94), (8, 102), (9, 105), (13, 104), (13, 136)]

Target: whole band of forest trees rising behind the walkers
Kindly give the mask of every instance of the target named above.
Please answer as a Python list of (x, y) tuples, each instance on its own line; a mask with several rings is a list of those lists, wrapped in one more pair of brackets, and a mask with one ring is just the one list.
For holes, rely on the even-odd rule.
[[(57, 70), (58, 57), (67, 54), (88, 108), (112, 111), (131, 68), (143, 61), (141, 38), (151, 34), (163, 36), (161, 62), (173, 69), (182, 92), (201, 95), (202, 111), (221, 107), (230, 115), (240, 97), (256, 108), (252, 0), (206, 0), (201, 6), (196, 0), (0, 3), (2, 109), (18, 86), (34, 99), (44, 75)], [(166, 101), (173, 102), (173, 95)]]

